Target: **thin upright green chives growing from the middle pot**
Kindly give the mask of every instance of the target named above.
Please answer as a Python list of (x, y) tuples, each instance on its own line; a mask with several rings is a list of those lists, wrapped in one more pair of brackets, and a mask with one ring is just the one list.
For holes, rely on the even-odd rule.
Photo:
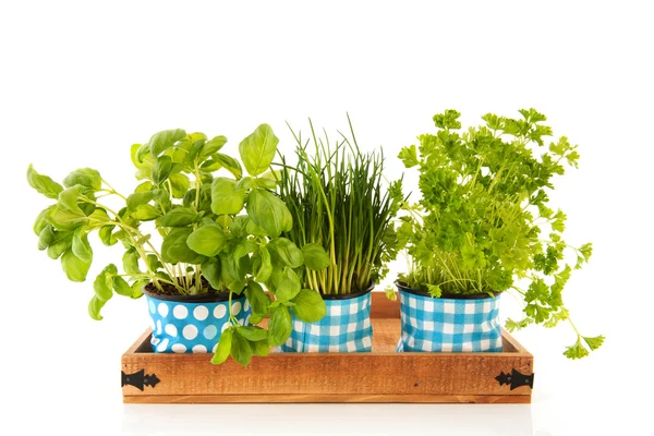
[[(386, 264), (400, 249), (393, 229), (402, 198), (402, 181), (386, 186), (384, 154), (360, 150), (348, 118), (351, 140), (339, 132), (334, 144), (324, 132), (296, 141), (296, 167), (280, 173), (280, 195), (293, 216), (284, 233), (296, 245), (317, 243), (329, 255), (323, 270), (304, 271), (306, 288), (325, 295), (368, 289), (388, 272)], [(291, 130), (292, 131), (292, 130)], [(313, 153), (311, 153), (313, 152)]]

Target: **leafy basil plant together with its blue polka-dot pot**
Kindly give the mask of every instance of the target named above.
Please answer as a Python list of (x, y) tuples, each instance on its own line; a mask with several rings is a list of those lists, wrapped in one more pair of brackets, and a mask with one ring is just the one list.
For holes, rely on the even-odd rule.
[[(142, 183), (129, 196), (88, 168), (70, 173), (63, 186), (32, 166), (27, 180), (56, 199), (39, 214), (34, 230), (39, 250), (60, 258), (70, 280), (85, 281), (90, 268), (88, 233), (97, 231), (105, 245), (120, 241), (125, 249), (123, 272), (110, 264), (94, 281), (88, 305), (94, 319), (101, 319), (100, 310), (114, 293), (133, 299), (145, 293), (154, 351), (215, 351), (216, 362), (231, 354), (246, 364), (253, 354), (268, 353), (269, 340), (290, 331), (290, 315), (288, 324), (271, 323), (270, 339), (267, 330), (249, 325), (251, 312), (261, 318), (268, 311), (264, 301), (269, 301), (250, 274), (256, 264), (250, 254), (265, 250), (268, 235), (290, 230), (292, 219), (269, 191), (275, 181), (257, 177), (277, 149), (270, 126), (259, 125), (240, 144), (251, 177), (243, 178), (241, 164), (219, 153), (226, 143), (225, 136), (208, 140), (202, 133), (169, 130), (134, 144), (131, 156)], [(215, 178), (219, 169), (235, 180)], [(119, 207), (107, 204), (110, 196)], [(237, 216), (245, 202), (249, 214)], [(143, 230), (144, 222), (154, 225), (157, 234)], [(267, 264), (258, 265), (261, 278)], [(228, 339), (217, 347), (221, 337)]]

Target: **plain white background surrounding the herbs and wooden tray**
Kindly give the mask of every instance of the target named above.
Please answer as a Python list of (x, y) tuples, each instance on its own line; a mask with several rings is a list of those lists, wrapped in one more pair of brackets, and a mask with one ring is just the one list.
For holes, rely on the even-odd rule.
[[(631, 1), (3, 1), (0, 433), (651, 432), (652, 16)], [(595, 253), (565, 295), (584, 334), (607, 337), (572, 362), (565, 325), (516, 335), (535, 356), (532, 405), (123, 405), (120, 355), (148, 325), (145, 301), (114, 298), (93, 322), (92, 282), (66, 281), (32, 234), (48, 203), (25, 181), (29, 162), (58, 180), (96, 168), (129, 192), (130, 145), (159, 130), (223, 134), (234, 153), (267, 122), (290, 152), (284, 121), (334, 132), (349, 112), (392, 178), (434, 113), (457, 108), (469, 124), (529, 107), (580, 145), (553, 199), (569, 242)], [(96, 247), (89, 277), (120, 261)]]

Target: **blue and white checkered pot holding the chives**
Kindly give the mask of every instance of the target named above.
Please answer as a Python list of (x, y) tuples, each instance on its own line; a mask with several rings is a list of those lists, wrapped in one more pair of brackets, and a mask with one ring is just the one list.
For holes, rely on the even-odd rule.
[(373, 348), (371, 293), (347, 300), (325, 300), (327, 315), (317, 323), (293, 317), (282, 352), (364, 352)]

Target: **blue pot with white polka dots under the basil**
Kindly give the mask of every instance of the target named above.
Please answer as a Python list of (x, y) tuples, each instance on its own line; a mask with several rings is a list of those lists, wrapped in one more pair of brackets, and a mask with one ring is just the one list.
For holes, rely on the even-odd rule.
[[(150, 343), (156, 353), (216, 351), (220, 334), (229, 327), (229, 295), (159, 295), (144, 290), (153, 318)], [(250, 319), (245, 295), (232, 295), (232, 313), (241, 324)]]

